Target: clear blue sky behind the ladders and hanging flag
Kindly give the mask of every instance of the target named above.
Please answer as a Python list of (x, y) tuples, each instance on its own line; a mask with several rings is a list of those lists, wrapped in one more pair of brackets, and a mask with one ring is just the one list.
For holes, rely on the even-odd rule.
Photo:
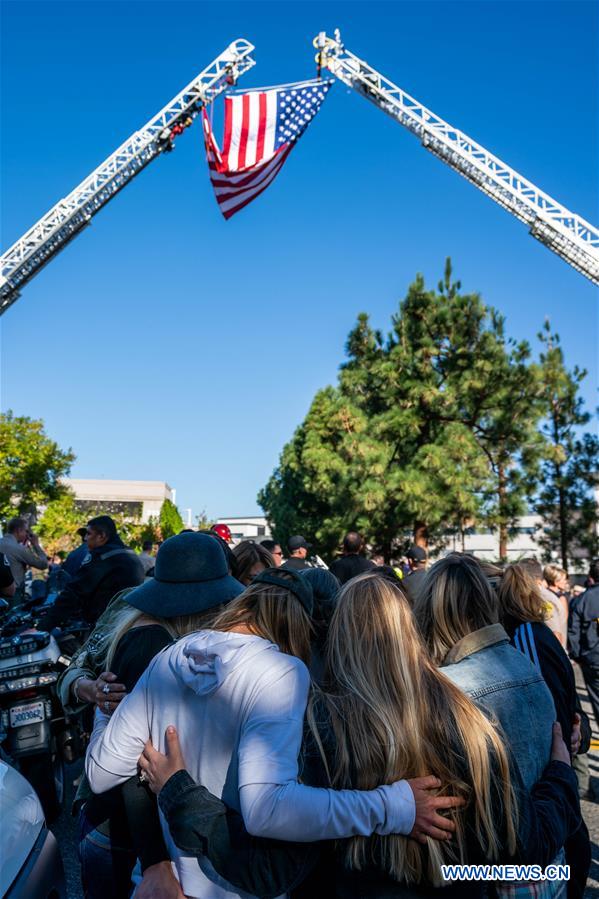
[[(597, 6), (558, 2), (3, 4), (2, 247), (236, 37), (251, 88), (354, 53), (594, 224)], [(221, 101), (222, 103), (222, 101)], [(220, 135), (219, 135), (220, 137)], [(194, 514), (256, 493), (356, 315), (386, 328), (417, 271), (534, 341), (546, 316), (596, 400), (596, 289), (340, 83), (276, 183), (225, 222), (199, 121), (3, 316), (1, 405), (41, 417), (73, 475), (167, 480)]]

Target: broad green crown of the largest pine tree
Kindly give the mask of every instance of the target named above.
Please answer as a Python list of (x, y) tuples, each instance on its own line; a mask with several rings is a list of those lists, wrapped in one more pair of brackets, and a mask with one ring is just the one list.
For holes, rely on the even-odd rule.
[(304, 533), (331, 551), (358, 528), (389, 557), (394, 540), (508, 528), (536, 485), (539, 373), (527, 344), (447, 260), (436, 291), (419, 275), (390, 332), (358, 317), (338, 384), (317, 393), (260, 492), (278, 540)]

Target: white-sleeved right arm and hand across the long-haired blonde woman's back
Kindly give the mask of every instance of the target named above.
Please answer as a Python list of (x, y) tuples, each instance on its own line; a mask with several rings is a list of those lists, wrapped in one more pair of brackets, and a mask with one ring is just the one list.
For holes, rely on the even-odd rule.
[(298, 783), (310, 678), (305, 665), (294, 662), (276, 682), (258, 691), (242, 724), (239, 798), (249, 833), (297, 842), (373, 833), (448, 838), (453, 825), (437, 810), (460, 805), (461, 800), (431, 797), (427, 791), (440, 786), (436, 778), (419, 778), (414, 789), (405, 780), (375, 790), (329, 790)]

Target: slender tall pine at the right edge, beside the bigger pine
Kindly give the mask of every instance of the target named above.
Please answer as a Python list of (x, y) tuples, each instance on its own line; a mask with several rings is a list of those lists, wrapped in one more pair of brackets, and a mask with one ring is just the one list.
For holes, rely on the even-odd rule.
[(539, 334), (541, 379), (547, 414), (543, 424), (546, 449), (542, 487), (536, 511), (543, 519), (538, 536), (545, 559), (559, 552), (563, 567), (573, 556), (599, 552), (597, 505), (593, 491), (599, 486), (599, 440), (582, 434), (591, 420), (585, 411), (579, 387), (586, 371), (575, 366), (568, 371), (559, 336), (548, 321)]

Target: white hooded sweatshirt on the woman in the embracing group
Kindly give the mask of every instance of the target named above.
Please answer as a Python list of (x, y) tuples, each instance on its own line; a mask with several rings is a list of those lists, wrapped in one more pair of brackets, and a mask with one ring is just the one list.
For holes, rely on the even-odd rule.
[[(163, 650), (108, 718), (96, 713), (86, 773), (101, 793), (134, 775), (144, 744), (165, 751), (177, 728), (191, 776), (241, 812), (255, 836), (313, 842), (404, 833), (415, 804), (406, 781), (376, 790), (325, 790), (297, 782), (310, 677), (261, 637), (200, 631)], [(183, 892), (248, 897), (210, 862), (185, 857), (162, 826)]]

